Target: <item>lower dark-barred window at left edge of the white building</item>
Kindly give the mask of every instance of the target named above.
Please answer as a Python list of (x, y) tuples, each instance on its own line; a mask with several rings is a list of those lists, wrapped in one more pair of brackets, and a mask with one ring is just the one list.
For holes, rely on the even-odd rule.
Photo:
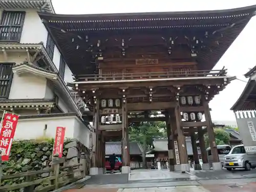
[(12, 83), (13, 63), (0, 63), (0, 98), (8, 99)]

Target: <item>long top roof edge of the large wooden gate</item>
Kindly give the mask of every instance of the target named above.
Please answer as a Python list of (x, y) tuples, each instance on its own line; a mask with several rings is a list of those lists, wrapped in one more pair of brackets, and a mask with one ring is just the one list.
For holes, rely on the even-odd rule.
[(248, 12), (253, 12), (256, 10), (256, 5), (253, 6), (247, 6), (247, 7), (241, 7), (241, 8), (235, 8), (235, 9), (224, 9), (224, 10), (210, 10), (210, 11), (178, 11), (178, 12), (147, 12), (147, 13), (109, 13), (109, 14), (76, 14), (76, 15), (67, 15), (67, 14), (50, 14), (50, 13), (38, 13), (41, 18), (44, 19), (60, 19), (60, 20), (98, 20), (102, 17), (104, 19), (133, 19), (135, 17), (136, 19), (138, 17), (141, 18), (154, 18), (154, 17), (205, 17), (205, 16), (214, 16), (218, 15), (219, 18), (226, 17), (227, 14), (243, 14)]

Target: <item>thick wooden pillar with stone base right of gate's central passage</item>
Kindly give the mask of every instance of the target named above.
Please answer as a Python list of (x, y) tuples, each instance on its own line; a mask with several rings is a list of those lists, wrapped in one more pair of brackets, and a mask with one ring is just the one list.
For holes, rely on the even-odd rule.
[(181, 171), (185, 172), (189, 170), (189, 165), (188, 165), (188, 157), (187, 157), (186, 138), (183, 135), (183, 127), (181, 127), (181, 114), (180, 114), (179, 104), (175, 108), (175, 117), (176, 117), (176, 124), (177, 124), (178, 147), (180, 152)]

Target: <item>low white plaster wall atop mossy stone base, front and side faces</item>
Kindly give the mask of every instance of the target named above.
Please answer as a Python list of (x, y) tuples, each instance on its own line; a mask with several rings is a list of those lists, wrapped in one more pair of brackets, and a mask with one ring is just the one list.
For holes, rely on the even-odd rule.
[(55, 138), (57, 126), (66, 127), (65, 138), (75, 138), (89, 147), (90, 131), (76, 116), (19, 119), (14, 139)]

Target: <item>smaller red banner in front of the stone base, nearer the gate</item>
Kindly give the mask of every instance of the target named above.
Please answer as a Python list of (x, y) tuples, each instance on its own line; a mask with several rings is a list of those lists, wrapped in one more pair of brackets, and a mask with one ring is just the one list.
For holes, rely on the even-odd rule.
[(55, 141), (53, 146), (53, 156), (58, 154), (59, 157), (62, 157), (65, 131), (66, 131), (66, 127), (57, 126)]

